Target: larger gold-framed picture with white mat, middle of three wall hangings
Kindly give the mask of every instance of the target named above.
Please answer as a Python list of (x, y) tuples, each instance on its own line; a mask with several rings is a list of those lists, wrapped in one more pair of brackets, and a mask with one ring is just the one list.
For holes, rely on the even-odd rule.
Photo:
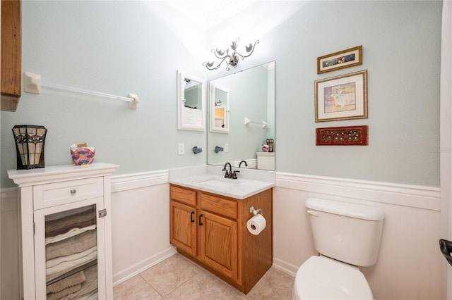
[(314, 82), (316, 122), (367, 118), (367, 70)]

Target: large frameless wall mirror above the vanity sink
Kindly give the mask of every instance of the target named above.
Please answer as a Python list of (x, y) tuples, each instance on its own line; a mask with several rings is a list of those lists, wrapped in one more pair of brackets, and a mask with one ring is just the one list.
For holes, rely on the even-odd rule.
[[(262, 151), (267, 139), (275, 141), (275, 62), (211, 80), (208, 89), (208, 164), (246, 161), (246, 168), (275, 170), (275, 145), (273, 152)], [(222, 105), (224, 126), (215, 109)]]

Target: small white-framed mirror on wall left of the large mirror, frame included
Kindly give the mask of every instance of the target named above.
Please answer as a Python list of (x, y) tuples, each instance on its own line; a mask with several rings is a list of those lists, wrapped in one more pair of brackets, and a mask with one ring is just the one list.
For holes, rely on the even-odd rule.
[(206, 83), (177, 71), (177, 129), (206, 129)]

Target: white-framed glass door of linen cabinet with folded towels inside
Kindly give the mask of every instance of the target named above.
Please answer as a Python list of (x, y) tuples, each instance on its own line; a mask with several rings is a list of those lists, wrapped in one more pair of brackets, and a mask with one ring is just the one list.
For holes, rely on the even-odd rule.
[(36, 299), (104, 299), (102, 208), (101, 197), (35, 211)]

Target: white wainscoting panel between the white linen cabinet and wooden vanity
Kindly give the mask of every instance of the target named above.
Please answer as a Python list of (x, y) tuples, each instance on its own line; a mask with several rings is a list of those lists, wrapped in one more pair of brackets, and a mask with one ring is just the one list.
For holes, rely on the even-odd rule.
[(169, 244), (168, 174), (112, 177), (114, 285), (176, 253)]

